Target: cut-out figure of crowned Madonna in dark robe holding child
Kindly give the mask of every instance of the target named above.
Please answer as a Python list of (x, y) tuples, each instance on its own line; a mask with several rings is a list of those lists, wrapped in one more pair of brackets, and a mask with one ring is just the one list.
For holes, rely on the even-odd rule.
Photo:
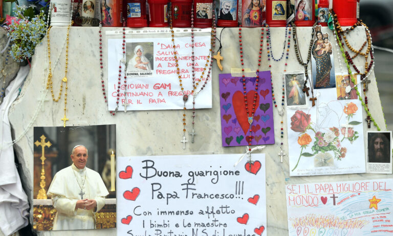
[(311, 50), (313, 85), (315, 89), (335, 88), (333, 47), (329, 33), (323, 33), (321, 26), (314, 28), (316, 39)]

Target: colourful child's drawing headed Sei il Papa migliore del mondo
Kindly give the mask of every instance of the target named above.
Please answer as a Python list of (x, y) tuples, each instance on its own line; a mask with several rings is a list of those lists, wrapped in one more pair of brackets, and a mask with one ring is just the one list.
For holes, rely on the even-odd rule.
[(392, 235), (393, 180), (286, 185), (289, 235)]

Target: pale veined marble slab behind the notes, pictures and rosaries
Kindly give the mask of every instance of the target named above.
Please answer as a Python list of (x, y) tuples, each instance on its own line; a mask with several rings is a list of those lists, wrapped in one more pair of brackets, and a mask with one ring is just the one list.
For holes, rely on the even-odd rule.
[[(115, 30), (114, 28), (103, 28), (103, 31)], [(117, 29), (119, 30), (119, 29)], [(302, 55), (309, 48), (311, 39), (311, 27), (299, 28), (299, 47)], [(325, 28), (326, 31), (328, 29)], [(223, 32), (222, 32), (223, 31)], [(64, 44), (66, 27), (53, 27), (51, 30), (51, 58), (53, 70), (53, 86), (59, 88), (60, 79), (64, 76), (65, 50), (60, 51)], [(332, 32), (329, 30), (331, 38)], [(69, 71), (68, 71), (68, 113), (70, 119), (67, 125), (88, 124), (117, 124), (117, 156), (144, 156), (144, 155), (182, 155), (182, 154), (240, 154), (245, 152), (245, 147), (222, 147), (221, 141), (221, 119), (220, 119), (220, 94), (219, 73), (231, 73), (231, 69), (240, 68), (238, 49), (238, 29), (217, 29), (217, 37), (220, 37), (224, 57), (221, 72), (215, 63), (213, 66), (212, 88), (213, 107), (197, 111), (195, 127), (197, 136), (193, 144), (188, 143), (186, 149), (182, 149), (180, 142), (182, 138), (182, 111), (128, 111), (119, 112), (112, 116), (107, 111), (107, 105), (103, 102), (100, 70), (99, 70), (99, 36), (98, 27), (73, 27), (70, 30), (69, 46)], [(257, 54), (259, 49), (260, 28), (244, 28), (243, 44), (245, 56), (245, 68), (255, 70), (257, 67)], [(271, 28), (273, 41), (273, 54), (279, 55), (285, 35), (285, 28)], [(130, 35), (126, 35), (130, 37)], [(104, 35), (103, 35), (103, 38)], [(355, 48), (365, 41), (364, 28), (357, 27), (349, 39)], [(23, 173), (22, 181), (29, 202), (32, 204), (33, 190), (33, 126), (60, 126), (63, 122), (63, 103), (55, 103), (51, 99), (50, 92), (46, 90), (46, 79), (48, 74), (48, 57), (46, 55), (46, 39), (44, 44), (38, 46), (32, 61), (32, 69), (21, 90), (20, 96), (11, 107), (9, 116), (13, 127), (14, 137), (18, 139), (14, 147), (21, 163)], [(293, 40), (291, 40), (293, 42)], [(217, 41), (216, 50), (220, 43)], [(292, 45), (293, 46), (293, 45)], [(104, 40), (104, 52), (106, 43)], [(335, 56), (337, 51), (334, 47)], [(59, 56), (59, 53), (61, 55)], [(59, 56), (59, 62), (54, 67), (55, 59)], [(294, 48), (291, 47), (288, 59), (287, 71), (301, 70)], [(303, 56), (305, 57), (305, 56)], [(106, 57), (104, 57), (104, 60)], [(283, 62), (272, 62), (272, 68), (268, 68), (266, 46), (263, 49), (263, 61), (260, 70), (272, 70), (273, 85), (281, 85), (281, 73)], [(355, 63), (363, 63), (355, 59)], [(340, 71), (337, 57), (335, 58), (336, 72)], [(343, 65), (343, 68), (346, 68)], [(362, 70), (362, 69), (361, 69)], [(106, 72), (104, 73), (104, 78)], [(369, 85), (367, 96), (369, 108), (378, 124), (384, 128), (384, 118), (381, 103), (376, 86), (374, 72), (371, 74), (372, 82)], [(55, 93), (57, 93), (57, 89)], [(45, 100), (42, 101), (42, 98)], [(62, 101), (62, 100), (61, 100)], [(43, 106), (43, 111), (41, 110)], [(364, 115), (364, 111), (363, 111)], [(187, 111), (191, 116), (191, 111)], [(279, 115), (274, 111), (276, 140), (279, 140)], [(284, 117), (284, 127), (287, 119)], [(367, 130), (366, 124), (363, 124)], [(374, 126), (372, 129), (376, 130)], [(286, 132), (285, 132), (286, 133)], [(285, 139), (286, 139), (285, 135)], [(287, 142), (283, 148), (288, 153)], [(386, 175), (338, 175), (338, 176), (315, 176), (315, 177), (292, 177), (289, 176), (288, 159), (284, 158), (280, 163), (278, 153), (279, 145), (268, 145), (262, 152), (266, 154), (266, 197), (267, 197), (267, 229), (268, 235), (288, 235), (287, 209), (285, 199), (285, 185), (294, 183), (308, 183), (318, 181), (346, 181), (373, 178), (388, 178)], [(287, 157), (287, 156), (286, 156)], [(89, 231), (67, 231), (67, 232), (39, 232), (39, 235), (115, 235), (116, 229), (89, 230)]]

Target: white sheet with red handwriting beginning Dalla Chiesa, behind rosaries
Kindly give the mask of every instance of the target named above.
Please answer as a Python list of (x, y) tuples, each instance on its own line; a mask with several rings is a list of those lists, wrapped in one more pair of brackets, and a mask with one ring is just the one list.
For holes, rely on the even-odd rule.
[[(108, 109), (116, 109), (117, 90), (120, 93), (119, 104), (128, 102), (129, 111), (183, 109), (183, 96), (187, 94), (191, 97), (192, 91), (191, 37), (175, 38), (179, 74), (170, 35), (161, 38), (130, 38), (125, 40), (123, 47), (122, 44), (122, 39), (108, 39)], [(197, 90), (208, 81), (195, 99), (197, 109), (211, 108), (211, 79), (207, 77), (209, 49), (210, 36), (194, 37), (195, 80), (201, 79), (205, 72)], [(121, 62), (123, 50), (126, 52), (125, 63)], [(192, 108), (192, 99), (188, 99), (186, 108)], [(119, 105), (119, 110), (124, 111), (124, 106)]]

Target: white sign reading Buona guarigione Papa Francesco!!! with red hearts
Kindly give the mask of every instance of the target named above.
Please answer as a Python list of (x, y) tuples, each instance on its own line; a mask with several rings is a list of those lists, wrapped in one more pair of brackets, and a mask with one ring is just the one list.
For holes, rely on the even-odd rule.
[(265, 236), (265, 155), (120, 157), (117, 234)]

